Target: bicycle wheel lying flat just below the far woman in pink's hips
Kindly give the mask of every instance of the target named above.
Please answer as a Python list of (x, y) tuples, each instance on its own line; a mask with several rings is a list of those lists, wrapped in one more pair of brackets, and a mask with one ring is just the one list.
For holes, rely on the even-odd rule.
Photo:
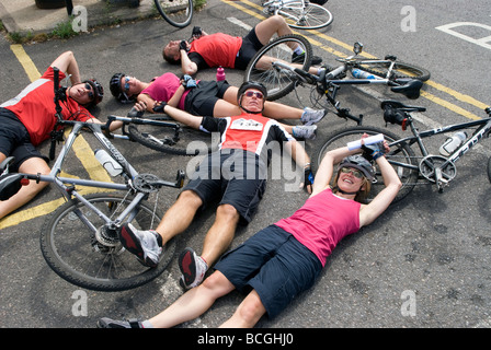
[(178, 130), (158, 125), (128, 125), (132, 139), (155, 151), (178, 155), (207, 154), (215, 150), (217, 139), (219, 139), (214, 135), (179, 124), (167, 115), (146, 116), (142, 119), (171, 121), (179, 125)]

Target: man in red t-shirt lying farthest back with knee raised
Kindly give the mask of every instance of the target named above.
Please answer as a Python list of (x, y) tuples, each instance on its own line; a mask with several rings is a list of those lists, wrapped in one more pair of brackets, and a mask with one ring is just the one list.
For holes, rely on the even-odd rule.
[[(193, 40), (172, 40), (162, 50), (163, 59), (169, 63), (179, 65), (184, 74), (195, 74), (198, 70), (210, 67), (224, 67), (246, 70), (249, 61), (273, 35), (292, 34), (292, 30), (281, 15), (273, 15), (259, 23), (244, 37), (230, 36), (224, 33), (206, 34), (203, 31), (194, 33)], [(298, 46), (292, 47), (296, 57), (304, 51)], [(312, 65), (319, 65), (320, 57), (313, 57)]]

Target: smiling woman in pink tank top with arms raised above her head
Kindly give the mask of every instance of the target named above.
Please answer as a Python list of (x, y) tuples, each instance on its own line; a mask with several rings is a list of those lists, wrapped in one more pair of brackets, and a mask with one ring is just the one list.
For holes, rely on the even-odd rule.
[[(386, 149), (384, 142), (364, 147), (363, 155), (355, 154), (359, 150), (347, 148), (328, 152), (316, 174), (312, 194), (292, 217), (258, 232), (224, 255), (213, 275), (159, 315), (132, 323), (102, 318), (99, 326), (172, 327), (198, 317), (218, 298), (235, 289), (248, 294), (221, 327), (252, 327), (264, 314), (270, 318), (276, 316), (313, 284), (335, 245), (372, 223), (398, 194), (401, 182), (384, 156)], [(369, 191), (374, 176), (370, 162), (377, 163), (386, 187), (365, 205), (358, 200)]]

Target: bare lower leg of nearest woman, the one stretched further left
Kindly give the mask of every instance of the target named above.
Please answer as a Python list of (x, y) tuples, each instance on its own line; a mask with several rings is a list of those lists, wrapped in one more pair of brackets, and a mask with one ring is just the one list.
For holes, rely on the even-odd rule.
[(149, 322), (156, 328), (168, 328), (194, 319), (212, 307), (218, 298), (232, 290), (233, 284), (220, 271), (216, 271)]

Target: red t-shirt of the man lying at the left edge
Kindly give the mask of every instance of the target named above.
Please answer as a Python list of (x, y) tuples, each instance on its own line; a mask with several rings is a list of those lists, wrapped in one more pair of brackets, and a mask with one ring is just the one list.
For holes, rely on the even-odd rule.
[[(65, 78), (59, 72), (59, 80)], [(28, 84), (19, 95), (7, 101), (0, 107), (13, 112), (25, 126), (34, 145), (39, 144), (49, 138), (49, 133), (55, 127), (55, 74), (53, 67), (49, 67), (38, 80)], [(80, 106), (75, 100), (68, 97), (66, 102), (60, 102), (64, 119), (73, 118), (87, 121), (93, 116), (85, 107)]]

